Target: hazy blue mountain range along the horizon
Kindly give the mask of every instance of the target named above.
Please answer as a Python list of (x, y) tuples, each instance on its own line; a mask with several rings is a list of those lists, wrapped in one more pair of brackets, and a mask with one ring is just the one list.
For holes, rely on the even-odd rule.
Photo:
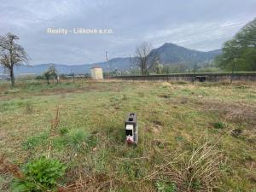
[[(196, 64), (203, 65), (205, 62), (212, 61), (216, 55), (221, 54), (221, 49), (216, 49), (208, 52), (199, 51), (195, 49), (187, 49), (177, 44), (163, 44), (157, 49), (153, 49), (150, 54), (158, 53), (160, 55), (160, 62), (163, 64), (183, 64), (187, 67), (193, 67)], [(134, 63), (134, 58), (113, 58), (107, 62), (97, 62), (93, 64), (84, 65), (65, 65), (55, 64), (58, 73), (64, 74), (82, 74), (90, 73), (91, 67), (102, 67), (103, 71), (113, 71), (116, 68), (121, 71), (129, 70), (131, 63)], [(15, 67), (15, 75), (18, 76), (23, 73), (42, 74), (47, 70), (50, 64), (40, 64), (34, 66), (19, 66)], [(107, 69), (109, 66), (109, 69)], [(0, 73), (3, 73), (3, 67), (0, 67)]]

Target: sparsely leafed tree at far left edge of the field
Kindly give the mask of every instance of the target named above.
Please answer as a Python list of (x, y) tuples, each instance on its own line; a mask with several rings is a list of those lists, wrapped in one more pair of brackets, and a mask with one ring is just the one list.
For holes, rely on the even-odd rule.
[(8, 69), (12, 86), (15, 86), (14, 67), (22, 63), (28, 64), (29, 57), (20, 44), (16, 44), (15, 40), (20, 38), (12, 33), (0, 36), (0, 65)]

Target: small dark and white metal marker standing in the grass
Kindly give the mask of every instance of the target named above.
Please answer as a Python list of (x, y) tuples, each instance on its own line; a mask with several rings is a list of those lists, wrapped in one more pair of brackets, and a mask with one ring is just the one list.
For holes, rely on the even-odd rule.
[(138, 125), (136, 113), (129, 113), (127, 119), (125, 119), (125, 136), (128, 144), (137, 144)]

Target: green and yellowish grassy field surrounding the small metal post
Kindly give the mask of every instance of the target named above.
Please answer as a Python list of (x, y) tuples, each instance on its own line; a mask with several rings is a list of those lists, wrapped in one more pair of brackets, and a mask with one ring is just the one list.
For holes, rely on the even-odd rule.
[[(256, 84), (0, 83), (0, 155), (22, 167), (48, 153), (67, 165), (59, 185), (78, 191), (255, 192)], [(0, 191), (12, 179), (2, 173)]]

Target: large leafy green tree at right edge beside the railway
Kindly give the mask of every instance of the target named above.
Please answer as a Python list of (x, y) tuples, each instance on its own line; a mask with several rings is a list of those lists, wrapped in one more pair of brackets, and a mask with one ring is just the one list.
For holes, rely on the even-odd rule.
[(256, 19), (224, 43), (223, 53), (215, 61), (218, 67), (231, 70), (232, 73), (236, 70), (256, 70)]

